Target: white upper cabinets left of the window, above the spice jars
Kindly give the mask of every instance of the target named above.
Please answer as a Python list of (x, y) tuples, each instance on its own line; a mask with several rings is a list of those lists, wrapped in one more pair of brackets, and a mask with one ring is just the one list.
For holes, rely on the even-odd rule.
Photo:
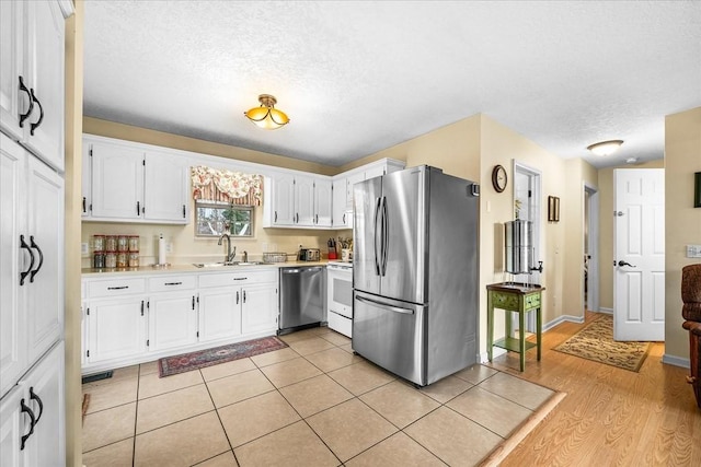
[(85, 137), (83, 220), (186, 224), (188, 168), (174, 154)]

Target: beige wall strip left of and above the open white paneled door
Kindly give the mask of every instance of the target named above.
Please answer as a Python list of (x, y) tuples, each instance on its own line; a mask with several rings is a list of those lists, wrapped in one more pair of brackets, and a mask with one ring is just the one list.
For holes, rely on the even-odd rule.
[(664, 168), (665, 160), (599, 170), (599, 310), (613, 311), (613, 170)]

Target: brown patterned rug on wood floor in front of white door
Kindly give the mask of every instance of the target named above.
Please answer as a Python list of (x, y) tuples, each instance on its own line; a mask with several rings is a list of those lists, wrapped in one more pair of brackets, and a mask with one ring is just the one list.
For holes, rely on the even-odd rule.
[(650, 342), (617, 342), (613, 340), (613, 317), (601, 315), (597, 320), (555, 347), (562, 353), (593, 360), (607, 365), (639, 372)]

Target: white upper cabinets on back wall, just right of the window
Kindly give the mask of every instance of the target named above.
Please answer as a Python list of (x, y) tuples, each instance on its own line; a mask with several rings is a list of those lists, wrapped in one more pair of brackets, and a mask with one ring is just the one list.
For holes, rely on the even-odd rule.
[(332, 182), (280, 173), (265, 179), (264, 226), (331, 227)]

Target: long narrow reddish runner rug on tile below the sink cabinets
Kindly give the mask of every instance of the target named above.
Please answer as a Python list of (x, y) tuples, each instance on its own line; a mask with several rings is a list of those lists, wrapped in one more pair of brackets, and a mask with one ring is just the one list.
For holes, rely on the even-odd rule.
[(230, 343), (228, 346), (215, 347), (212, 349), (198, 350), (196, 352), (183, 353), (181, 355), (166, 357), (158, 361), (159, 376), (170, 376), (177, 373), (185, 373), (193, 370), (211, 366), (232, 360), (244, 359), (246, 357), (260, 355), (287, 347), (275, 336), (263, 337), (261, 339), (246, 340), (245, 342)]

